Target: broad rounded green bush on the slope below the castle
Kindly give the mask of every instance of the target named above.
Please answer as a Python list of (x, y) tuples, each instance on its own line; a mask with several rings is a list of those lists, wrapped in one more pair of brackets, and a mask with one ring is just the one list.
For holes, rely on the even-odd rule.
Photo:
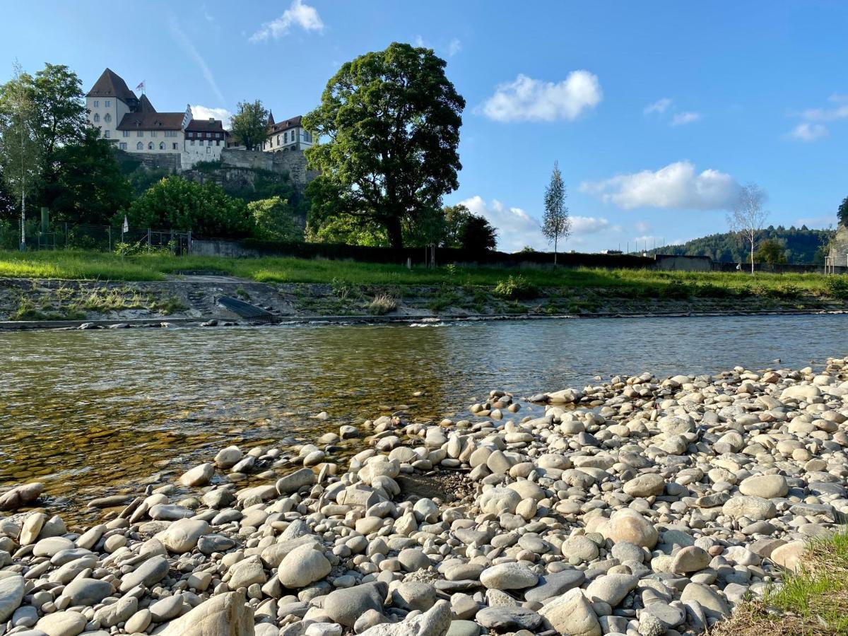
[[(130, 226), (191, 230), (202, 237), (246, 237), (253, 229), (247, 205), (214, 182), (169, 176), (132, 202)], [(123, 221), (123, 217), (118, 219)]]

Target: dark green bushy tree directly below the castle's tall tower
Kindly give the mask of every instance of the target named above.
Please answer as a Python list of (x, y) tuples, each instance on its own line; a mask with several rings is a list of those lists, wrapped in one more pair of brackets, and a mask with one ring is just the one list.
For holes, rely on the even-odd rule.
[(105, 224), (132, 201), (130, 181), (96, 128), (86, 128), (81, 141), (59, 147), (56, 165), (55, 180), (45, 184), (42, 194), (56, 220)]

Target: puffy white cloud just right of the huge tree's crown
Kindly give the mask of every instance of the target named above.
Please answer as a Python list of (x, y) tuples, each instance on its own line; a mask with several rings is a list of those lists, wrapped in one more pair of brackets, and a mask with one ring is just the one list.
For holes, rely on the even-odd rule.
[(482, 110), (495, 121), (575, 120), (603, 98), (598, 76), (588, 70), (574, 70), (557, 83), (518, 75), (515, 81), (499, 84)]

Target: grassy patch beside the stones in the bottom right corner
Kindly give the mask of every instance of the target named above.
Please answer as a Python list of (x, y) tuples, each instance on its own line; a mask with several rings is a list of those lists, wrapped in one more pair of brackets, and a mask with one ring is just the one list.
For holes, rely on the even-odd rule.
[(806, 569), (788, 574), (765, 599), (741, 605), (714, 636), (825, 636), (848, 633), (848, 532), (813, 541)]

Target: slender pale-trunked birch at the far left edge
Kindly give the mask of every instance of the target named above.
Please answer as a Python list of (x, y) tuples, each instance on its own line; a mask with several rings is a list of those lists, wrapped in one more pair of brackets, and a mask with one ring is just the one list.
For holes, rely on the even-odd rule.
[(6, 188), (20, 199), (20, 249), (26, 248), (26, 197), (41, 171), (32, 78), (14, 65), (14, 78), (0, 86), (0, 170)]

